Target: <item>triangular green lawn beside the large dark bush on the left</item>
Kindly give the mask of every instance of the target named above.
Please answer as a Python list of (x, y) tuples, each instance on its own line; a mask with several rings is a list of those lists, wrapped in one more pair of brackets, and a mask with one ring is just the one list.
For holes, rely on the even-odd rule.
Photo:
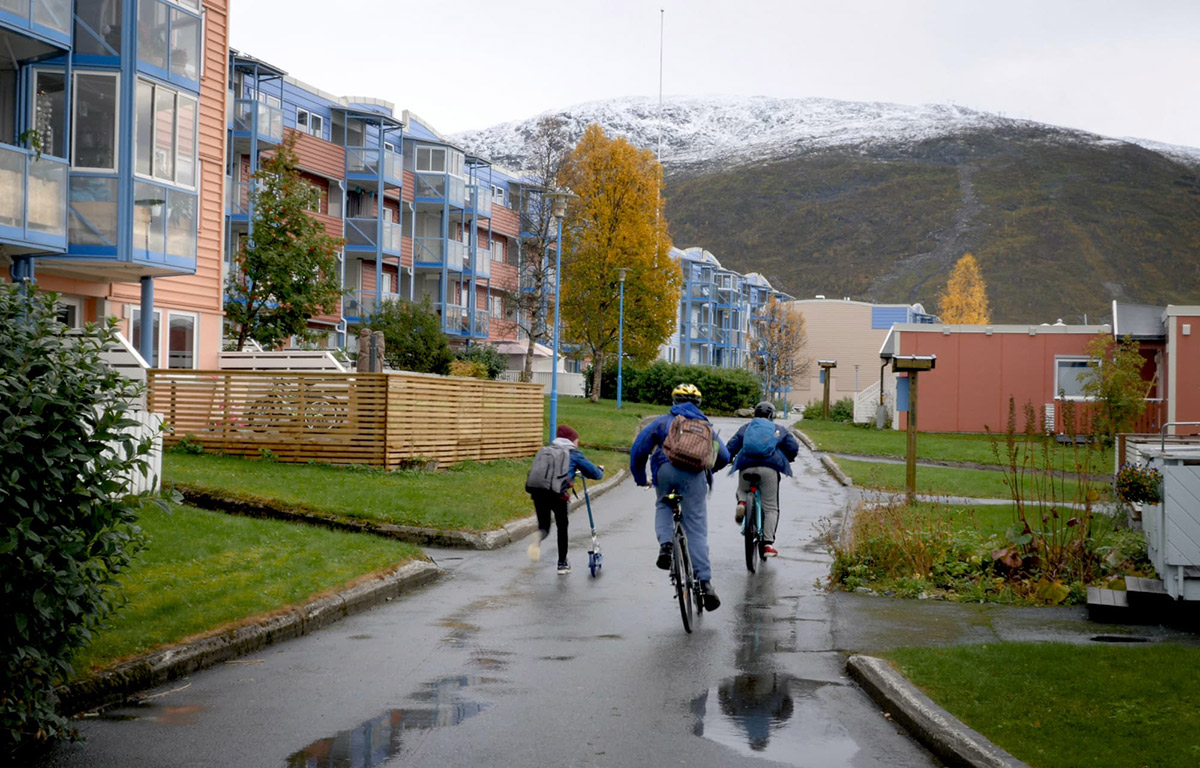
[(150, 544), (120, 577), (128, 604), (80, 654), (79, 674), (424, 559), (390, 539), (190, 506), (146, 505), (140, 524)]

